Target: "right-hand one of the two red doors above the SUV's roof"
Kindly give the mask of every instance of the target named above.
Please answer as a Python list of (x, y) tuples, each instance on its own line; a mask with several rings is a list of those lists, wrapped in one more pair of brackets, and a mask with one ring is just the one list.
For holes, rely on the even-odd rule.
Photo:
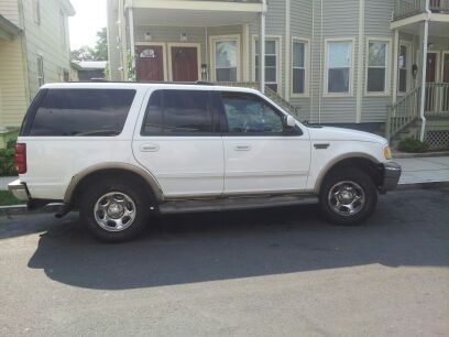
[(198, 50), (190, 46), (172, 47), (173, 81), (198, 80)]

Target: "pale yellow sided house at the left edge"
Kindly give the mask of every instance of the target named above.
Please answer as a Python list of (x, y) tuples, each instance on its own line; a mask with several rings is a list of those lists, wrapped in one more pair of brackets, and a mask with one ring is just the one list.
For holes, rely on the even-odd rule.
[(45, 83), (69, 78), (68, 0), (0, 1), (0, 131), (19, 127)]

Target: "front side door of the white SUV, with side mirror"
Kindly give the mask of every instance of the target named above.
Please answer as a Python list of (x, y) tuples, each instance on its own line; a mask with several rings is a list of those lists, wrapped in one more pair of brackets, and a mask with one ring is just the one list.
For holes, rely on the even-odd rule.
[(263, 97), (221, 93), (226, 127), (225, 194), (304, 191), (310, 165), (306, 130), (285, 126), (285, 115)]

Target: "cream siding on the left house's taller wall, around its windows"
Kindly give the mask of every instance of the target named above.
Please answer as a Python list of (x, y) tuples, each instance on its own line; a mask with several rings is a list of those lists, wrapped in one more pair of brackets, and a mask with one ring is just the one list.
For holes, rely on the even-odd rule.
[(66, 41), (62, 43), (59, 0), (41, 1), (41, 24), (33, 20), (31, 1), (23, 2), (30, 95), (39, 89), (37, 55), (44, 57), (45, 83), (61, 81), (63, 70), (69, 70), (68, 23), (65, 17)]

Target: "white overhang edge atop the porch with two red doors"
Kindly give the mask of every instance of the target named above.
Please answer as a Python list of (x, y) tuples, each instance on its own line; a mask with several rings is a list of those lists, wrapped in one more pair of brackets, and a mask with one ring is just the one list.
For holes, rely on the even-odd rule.
[(261, 2), (127, 0), (135, 25), (219, 26), (249, 23), (264, 11)]

